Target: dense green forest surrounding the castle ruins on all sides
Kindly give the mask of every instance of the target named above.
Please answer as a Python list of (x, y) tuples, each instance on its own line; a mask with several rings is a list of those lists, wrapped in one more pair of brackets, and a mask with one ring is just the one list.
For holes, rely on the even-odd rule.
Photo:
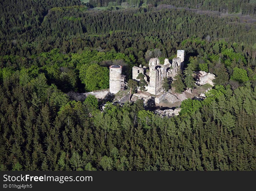
[[(1, 1), (0, 169), (256, 170), (255, 14), (253, 0)], [(109, 88), (110, 65), (131, 79), (178, 49), (186, 88), (189, 71), (216, 76), (178, 116), (76, 98)]]

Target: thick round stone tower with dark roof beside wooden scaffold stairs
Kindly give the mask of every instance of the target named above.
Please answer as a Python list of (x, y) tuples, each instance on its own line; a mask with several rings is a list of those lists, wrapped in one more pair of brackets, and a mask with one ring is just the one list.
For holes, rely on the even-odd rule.
[(109, 67), (109, 91), (116, 94), (120, 90), (120, 76), (122, 75), (122, 66), (112, 65)]

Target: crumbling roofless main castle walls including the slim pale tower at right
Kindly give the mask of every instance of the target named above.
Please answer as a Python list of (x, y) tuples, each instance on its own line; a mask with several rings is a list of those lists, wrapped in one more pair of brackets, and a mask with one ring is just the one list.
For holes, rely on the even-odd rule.
[(144, 79), (147, 82), (145, 87), (147, 92), (153, 95), (157, 95), (163, 92), (162, 83), (165, 77), (174, 77), (179, 69), (183, 69), (184, 66), (184, 50), (177, 51), (177, 57), (173, 58), (172, 64), (166, 58), (163, 65), (160, 64), (158, 58), (151, 58), (149, 61), (149, 67), (134, 66), (132, 68), (132, 78), (138, 80), (138, 74), (142, 73)]

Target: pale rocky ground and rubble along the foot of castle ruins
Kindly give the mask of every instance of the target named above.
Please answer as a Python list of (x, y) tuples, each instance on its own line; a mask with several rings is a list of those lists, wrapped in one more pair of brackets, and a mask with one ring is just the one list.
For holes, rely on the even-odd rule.
[[(189, 98), (202, 100), (205, 98), (204, 93), (213, 87), (212, 79), (214, 79), (214, 75), (203, 71), (200, 71), (199, 73), (199, 78), (196, 81), (198, 87), (194, 90), (189, 88), (182, 94), (177, 94), (173, 90), (169, 90), (164, 93), (160, 92), (158, 95), (153, 95), (145, 91), (138, 91), (131, 95), (131, 101), (135, 102), (137, 99), (143, 100), (146, 109), (154, 111), (154, 113), (162, 117), (179, 115), (179, 106), (182, 101)], [(119, 91), (117, 94), (111, 94), (109, 89), (104, 89), (79, 94), (74, 92), (68, 93), (70, 99), (76, 101), (84, 101), (88, 95), (94, 95), (99, 101), (100, 109), (103, 110), (107, 101), (117, 104), (124, 104), (129, 101), (130, 92), (127, 89), (125, 91)]]

